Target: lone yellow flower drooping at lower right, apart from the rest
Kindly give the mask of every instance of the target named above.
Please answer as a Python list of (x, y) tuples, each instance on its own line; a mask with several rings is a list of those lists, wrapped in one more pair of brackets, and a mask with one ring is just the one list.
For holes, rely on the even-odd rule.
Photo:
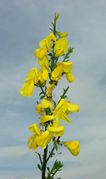
[(64, 146), (71, 152), (72, 155), (77, 156), (80, 152), (79, 141), (63, 142)]

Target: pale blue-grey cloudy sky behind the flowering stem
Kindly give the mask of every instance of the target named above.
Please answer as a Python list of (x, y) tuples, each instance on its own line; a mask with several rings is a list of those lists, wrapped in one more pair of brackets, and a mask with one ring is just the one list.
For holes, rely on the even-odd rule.
[[(75, 158), (61, 149), (65, 179), (106, 178), (106, 1), (0, 0), (0, 179), (39, 179), (37, 158), (27, 149), (27, 126), (37, 120), (35, 101), (19, 90), (27, 71), (37, 65), (33, 51), (49, 33), (54, 12), (58, 29), (68, 31), (75, 50), (71, 59), (75, 83), (69, 98), (81, 107), (65, 125), (64, 139), (81, 142)], [(60, 81), (55, 98), (66, 80)]]

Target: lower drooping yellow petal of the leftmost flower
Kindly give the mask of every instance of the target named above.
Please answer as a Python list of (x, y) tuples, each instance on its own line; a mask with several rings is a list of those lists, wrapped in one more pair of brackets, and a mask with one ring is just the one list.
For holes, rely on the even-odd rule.
[(22, 96), (32, 96), (34, 91), (34, 82), (33, 80), (26, 81), (20, 90)]

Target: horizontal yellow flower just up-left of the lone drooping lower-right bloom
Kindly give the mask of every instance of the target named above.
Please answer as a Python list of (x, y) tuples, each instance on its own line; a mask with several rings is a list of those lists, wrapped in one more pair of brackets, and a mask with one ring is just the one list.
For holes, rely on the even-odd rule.
[(64, 134), (64, 126), (51, 127), (49, 126), (47, 130), (55, 137), (62, 136)]

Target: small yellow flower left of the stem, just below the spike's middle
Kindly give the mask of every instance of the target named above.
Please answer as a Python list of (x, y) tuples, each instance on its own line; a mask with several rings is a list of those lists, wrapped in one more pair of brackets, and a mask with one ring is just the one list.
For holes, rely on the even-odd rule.
[(43, 99), (41, 103), (37, 104), (36, 112), (39, 114), (42, 114), (47, 108), (52, 109), (53, 108), (52, 103), (48, 101), (47, 99)]

